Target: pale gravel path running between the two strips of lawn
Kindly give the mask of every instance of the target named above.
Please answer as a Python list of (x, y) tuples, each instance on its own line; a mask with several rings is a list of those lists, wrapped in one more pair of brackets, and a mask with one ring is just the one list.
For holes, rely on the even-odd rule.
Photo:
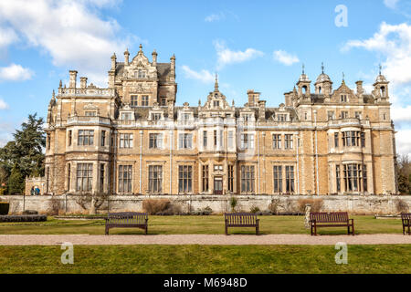
[(0, 245), (411, 245), (411, 235), (0, 235)]

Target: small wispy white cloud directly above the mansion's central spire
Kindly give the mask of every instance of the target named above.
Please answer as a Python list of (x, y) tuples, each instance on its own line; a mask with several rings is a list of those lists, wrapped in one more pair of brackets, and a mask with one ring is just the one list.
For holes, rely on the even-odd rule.
[(228, 64), (242, 63), (264, 55), (263, 52), (254, 48), (248, 48), (245, 51), (232, 51), (221, 41), (215, 41), (214, 45), (217, 53), (217, 68), (223, 68)]

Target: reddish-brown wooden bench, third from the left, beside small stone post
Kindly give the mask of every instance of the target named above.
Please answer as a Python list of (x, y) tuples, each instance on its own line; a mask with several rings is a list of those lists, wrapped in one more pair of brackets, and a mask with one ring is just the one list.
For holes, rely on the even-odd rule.
[(354, 235), (353, 219), (348, 218), (347, 212), (310, 213), (310, 226), (311, 235), (317, 235), (317, 227), (347, 227), (348, 234)]

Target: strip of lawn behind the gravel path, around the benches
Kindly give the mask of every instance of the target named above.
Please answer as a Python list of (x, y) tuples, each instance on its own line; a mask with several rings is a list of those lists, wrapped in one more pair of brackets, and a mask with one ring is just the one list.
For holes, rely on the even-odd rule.
[[(304, 228), (304, 216), (258, 216), (260, 232), (267, 234), (310, 234)], [(351, 216), (354, 219), (355, 233), (364, 234), (402, 234), (401, 220), (374, 219), (374, 216)], [(209, 216), (149, 216), (150, 235), (222, 235), (224, 234), (223, 215)], [(253, 228), (229, 228), (230, 234), (253, 234)], [(113, 235), (141, 235), (141, 229), (114, 228)], [(346, 234), (347, 228), (319, 228), (320, 235)], [(0, 235), (103, 235), (104, 220), (57, 220), (48, 217), (41, 223), (0, 223)]]

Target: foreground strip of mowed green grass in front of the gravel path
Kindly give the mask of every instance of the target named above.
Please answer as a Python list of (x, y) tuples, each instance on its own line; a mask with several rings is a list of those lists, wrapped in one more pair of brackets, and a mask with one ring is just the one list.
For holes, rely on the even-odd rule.
[(411, 273), (410, 245), (349, 245), (337, 265), (332, 245), (76, 245), (63, 265), (60, 246), (0, 246), (0, 273), (281, 274)]

